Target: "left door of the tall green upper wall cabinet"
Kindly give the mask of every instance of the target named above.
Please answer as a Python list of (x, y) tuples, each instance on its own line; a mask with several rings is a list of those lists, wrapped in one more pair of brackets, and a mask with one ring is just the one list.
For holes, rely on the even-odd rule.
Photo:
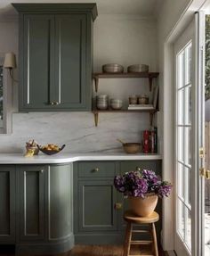
[(54, 15), (20, 19), (20, 111), (51, 109), (54, 83)]

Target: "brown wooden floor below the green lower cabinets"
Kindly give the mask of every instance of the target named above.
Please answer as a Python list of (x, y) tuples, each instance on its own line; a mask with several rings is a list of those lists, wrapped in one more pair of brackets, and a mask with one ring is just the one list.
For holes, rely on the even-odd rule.
[[(132, 246), (132, 255), (152, 255), (149, 247)], [(0, 252), (0, 256), (14, 256), (12, 252)], [(32, 256), (32, 255), (21, 255)], [(47, 255), (52, 256), (52, 255)], [(53, 254), (53, 256), (123, 256), (123, 246), (116, 245), (76, 245), (71, 251)], [(159, 250), (159, 256), (167, 256), (166, 252)]]

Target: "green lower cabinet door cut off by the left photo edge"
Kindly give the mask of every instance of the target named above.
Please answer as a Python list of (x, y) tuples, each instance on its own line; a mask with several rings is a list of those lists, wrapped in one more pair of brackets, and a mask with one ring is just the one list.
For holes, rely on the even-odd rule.
[(0, 244), (15, 242), (15, 167), (0, 166)]

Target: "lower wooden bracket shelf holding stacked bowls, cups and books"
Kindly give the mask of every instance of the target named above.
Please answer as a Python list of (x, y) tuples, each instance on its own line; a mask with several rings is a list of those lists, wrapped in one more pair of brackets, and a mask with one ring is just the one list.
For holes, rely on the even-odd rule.
[(145, 110), (112, 110), (112, 109), (107, 109), (107, 110), (98, 110), (98, 109), (93, 109), (93, 114), (94, 114), (94, 122), (95, 122), (95, 126), (98, 126), (99, 123), (99, 113), (129, 113), (129, 112), (139, 112), (139, 113), (149, 113), (149, 123), (150, 125), (152, 125), (153, 123), (153, 116), (154, 114), (157, 112), (158, 110), (149, 110), (149, 109), (145, 109)]

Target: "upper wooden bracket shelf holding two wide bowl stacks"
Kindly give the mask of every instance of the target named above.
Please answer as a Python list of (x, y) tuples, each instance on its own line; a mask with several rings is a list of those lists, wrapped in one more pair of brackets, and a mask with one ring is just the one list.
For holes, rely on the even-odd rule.
[(138, 73), (93, 73), (95, 82), (95, 92), (98, 92), (99, 78), (149, 78), (149, 91), (152, 88), (152, 79), (158, 78), (158, 72), (138, 72)]

